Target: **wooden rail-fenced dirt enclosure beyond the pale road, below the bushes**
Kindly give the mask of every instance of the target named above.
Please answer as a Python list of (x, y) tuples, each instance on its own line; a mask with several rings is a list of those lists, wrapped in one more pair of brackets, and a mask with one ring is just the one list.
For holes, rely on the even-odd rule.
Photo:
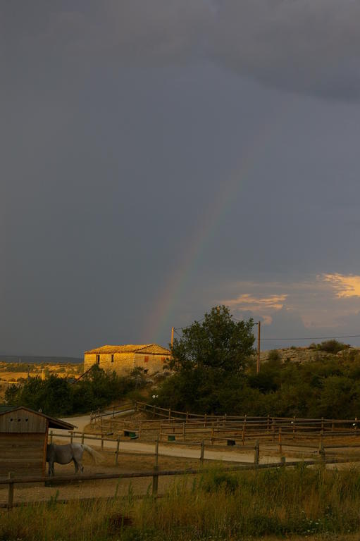
[[(152, 418), (129, 420), (116, 417), (125, 411), (143, 411)], [(126, 404), (112, 412), (95, 413), (92, 425), (99, 433), (112, 433), (120, 437), (132, 433), (142, 440), (207, 440), (211, 444), (238, 444), (262, 440), (268, 442), (318, 441), (328, 438), (343, 438), (360, 435), (360, 424), (354, 419), (306, 419), (284, 417), (213, 416), (184, 413), (160, 408), (144, 402)], [(230, 442), (230, 443), (229, 443)]]

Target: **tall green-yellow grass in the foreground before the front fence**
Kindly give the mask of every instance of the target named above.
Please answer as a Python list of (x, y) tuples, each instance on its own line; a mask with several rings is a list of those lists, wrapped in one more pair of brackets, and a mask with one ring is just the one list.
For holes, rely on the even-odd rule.
[[(35, 504), (1, 512), (0, 541), (221, 541), (360, 533), (360, 473), (297, 468), (177, 480), (155, 501)], [(355, 537), (354, 537), (355, 538)]]

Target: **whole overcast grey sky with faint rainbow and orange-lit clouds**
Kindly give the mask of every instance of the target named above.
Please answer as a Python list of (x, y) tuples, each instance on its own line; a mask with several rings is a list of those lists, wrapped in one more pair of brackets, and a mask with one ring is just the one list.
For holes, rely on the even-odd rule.
[(0, 354), (360, 335), (360, 2), (0, 6)]

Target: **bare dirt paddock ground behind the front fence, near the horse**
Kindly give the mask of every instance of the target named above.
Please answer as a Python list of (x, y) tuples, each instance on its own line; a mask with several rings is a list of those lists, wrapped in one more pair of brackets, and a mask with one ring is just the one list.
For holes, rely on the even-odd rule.
[[(82, 464), (84, 473), (130, 473), (137, 471), (152, 471), (154, 469), (154, 456), (143, 456), (142, 454), (121, 454), (118, 456), (118, 466), (114, 464), (114, 453), (101, 452), (99, 448), (94, 447), (102, 456), (99, 464), (94, 464), (92, 458), (86, 452), (83, 455)], [(159, 456), (159, 469), (161, 470), (181, 470), (185, 468), (199, 468), (199, 460), (182, 459), (178, 457)], [(47, 468), (47, 464), (46, 464)], [(46, 470), (47, 471), (47, 470)], [(15, 485), (14, 504), (25, 502), (42, 502), (49, 499), (85, 499), (85, 498), (106, 498), (114, 495), (125, 496), (129, 491), (133, 495), (146, 495), (151, 492), (151, 477), (132, 478), (132, 479), (109, 479), (109, 480), (79, 480), (73, 483), (56, 483), (56, 475), (74, 475), (75, 468), (73, 462), (66, 465), (55, 464), (55, 477), (51, 486), (44, 485)], [(159, 478), (159, 494), (166, 492), (178, 476), (163, 476)], [(0, 504), (6, 504), (8, 501), (8, 485), (0, 485)]]

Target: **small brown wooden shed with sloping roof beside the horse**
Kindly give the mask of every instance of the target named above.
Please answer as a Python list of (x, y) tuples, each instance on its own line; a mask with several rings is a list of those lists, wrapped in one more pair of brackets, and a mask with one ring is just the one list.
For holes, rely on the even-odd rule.
[(49, 428), (74, 426), (20, 406), (0, 410), (0, 477), (45, 475)]

